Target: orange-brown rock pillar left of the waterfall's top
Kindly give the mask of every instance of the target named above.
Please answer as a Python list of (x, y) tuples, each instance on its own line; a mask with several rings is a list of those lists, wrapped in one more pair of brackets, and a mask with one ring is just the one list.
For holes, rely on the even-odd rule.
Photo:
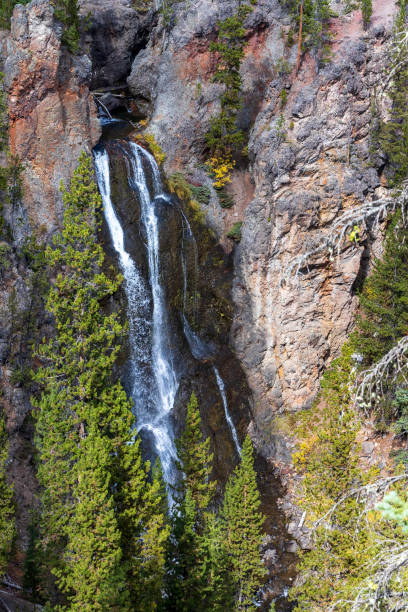
[(48, 2), (18, 6), (6, 61), (10, 146), (23, 160), (29, 220), (48, 234), (62, 213), (60, 181), (69, 181), (80, 152), (100, 137), (90, 60), (70, 57), (60, 35)]

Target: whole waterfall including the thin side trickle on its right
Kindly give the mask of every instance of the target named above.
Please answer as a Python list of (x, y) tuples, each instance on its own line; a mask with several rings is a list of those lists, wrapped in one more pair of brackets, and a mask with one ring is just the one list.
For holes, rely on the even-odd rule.
[[(130, 389), (136, 417), (136, 428), (153, 441), (154, 453), (160, 458), (163, 475), (168, 485), (177, 480), (175, 468), (177, 452), (172, 411), (180, 385), (182, 367), (177, 351), (178, 339), (169, 324), (168, 305), (160, 261), (160, 207), (171, 205), (163, 192), (159, 169), (154, 157), (140, 145), (131, 141), (116, 141), (126, 164), (129, 188), (140, 202), (140, 226), (143, 229), (148, 274), (144, 275), (138, 263), (126, 248), (125, 230), (117, 214), (112, 196), (112, 176), (109, 147), (98, 145), (94, 150), (95, 169), (103, 201), (103, 211), (112, 245), (124, 276), (127, 297), (127, 319), (130, 345)], [(116, 203), (117, 204), (117, 203)], [(196, 281), (198, 250), (190, 224), (181, 214), (181, 269), (183, 274), (182, 330), (190, 352), (199, 362), (214, 361), (215, 349), (205, 343), (191, 329), (186, 317), (186, 301), (191, 285), (191, 300), (195, 316), (197, 304)], [(188, 265), (188, 257), (194, 261)], [(188, 277), (188, 269), (195, 278)], [(234, 447), (239, 457), (241, 447), (238, 434), (229, 413), (225, 384), (215, 365), (212, 366), (220, 393), (224, 415)], [(211, 370), (208, 370), (211, 372)], [(169, 488), (171, 497), (171, 487)], [(170, 500), (171, 501), (171, 500)]]

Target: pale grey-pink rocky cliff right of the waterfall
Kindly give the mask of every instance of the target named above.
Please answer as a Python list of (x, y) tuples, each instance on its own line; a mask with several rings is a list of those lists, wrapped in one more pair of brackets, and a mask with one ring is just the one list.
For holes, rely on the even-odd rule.
[[(258, 2), (242, 64), (240, 123), (249, 129), (249, 166), (233, 175), (232, 209), (223, 211), (214, 194), (205, 209), (223, 244), (232, 223), (244, 221), (231, 344), (253, 391), (259, 443), (280, 460), (288, 453), (273, 417), (313, 401), (323, 369), (350, 331), (375, 236), (358, 246), (345, 240), (332, 261), (329, 254), (315, 258), (298, 278), (286, 279), (286, 271), (324, 240), (339, 214), (386, 191), (385, 160), (371, 150), (369, 124), (387, 70), (395, 2), (373, 3), (367, 31), (360, 11), (345, 14), (335, 4), (327, 64), (319, 69), (306, 54), (295, 74), (284, 3)], [(128, 79), (136, 99), (148, 101), (149, 129), (167, 154), (166, 169), (208, 184), (197, 166), (220, 93), (209, 41), (231, 10), (228, 1), (177, 5), (176, 25), (169, 34), (153, 30)]]

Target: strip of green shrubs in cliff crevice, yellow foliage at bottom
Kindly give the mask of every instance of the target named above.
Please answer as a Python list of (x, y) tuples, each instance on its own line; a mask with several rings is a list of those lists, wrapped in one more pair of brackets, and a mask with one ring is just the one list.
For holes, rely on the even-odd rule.
[(218, 54), (219, 63), (214, 81), (224, 85), (221, 96), (221, 109), (211, 118), (210, 129), (206, 134), (210, 150), (208, 167), (214, 176), (214, 186), (223, 187), (230, 181), (230, 173), (235, 162), (232, 156), (242, 151), (245, 136), (238, 127), (238, 112), (241, 109), (242, 77), (240, 66), (244, 58), (245, 19), (253, 10), (255, 2), (239, 3), (236, 12), (218, 24), (218, 38), (210, 43), (210, 50)]

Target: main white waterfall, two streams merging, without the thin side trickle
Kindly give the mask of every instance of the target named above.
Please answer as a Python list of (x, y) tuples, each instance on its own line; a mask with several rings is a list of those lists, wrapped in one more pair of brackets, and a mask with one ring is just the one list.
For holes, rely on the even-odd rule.
[[(145, 430), (152, 435), (164, 479), (168, 485), (172, 485), (176, 480), (177, 451), (170, 413), (179, 381), (173, 364), (172, 339), (160, 280), (159, 226), (155, 211), (159, 197), (164, 200), (168, 198), (162, 194), (160, 174), (154, 158), (135, 143), (129, 143), (129, 149), (123, 151), (128, 164), (129, 185), (141, 203), (141, 222), (147, 241), (149, 287), (125, 248), (124, 232), (111, 197), (109, 154), (103, 147), (94, 151), (96, 176), (106, 223), (125, 279), (136, 427), (138, 431)], [(145, 166), (153, 177), (153, 197), (149, 192)]]

